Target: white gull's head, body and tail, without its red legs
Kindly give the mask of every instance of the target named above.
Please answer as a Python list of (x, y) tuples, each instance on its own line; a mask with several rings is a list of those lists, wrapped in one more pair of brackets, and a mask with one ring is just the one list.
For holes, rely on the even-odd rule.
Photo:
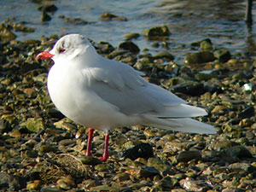
[(216, 133), (212, 125), (190, 119), (207, 115), (204, 109), (148, 83), (142, 72), (129, 65), (98, 55), (79, 34), (64, 36), (40, 57), (55, 61), (48, 76), (50, 98), (61, 113), (80, 125), (106, 133), (125, 125)]

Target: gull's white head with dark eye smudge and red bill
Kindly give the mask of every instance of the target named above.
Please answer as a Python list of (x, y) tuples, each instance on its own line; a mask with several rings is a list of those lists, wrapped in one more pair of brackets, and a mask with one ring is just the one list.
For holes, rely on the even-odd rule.
[(51, 58), (57, 59), (73, 59), (74, 57), (84, 53), (90, 47), (90, 42), (80, 34), (69, 34), (60, 38), (53, 49), (44, 51), (37, 55), (36, 60)]

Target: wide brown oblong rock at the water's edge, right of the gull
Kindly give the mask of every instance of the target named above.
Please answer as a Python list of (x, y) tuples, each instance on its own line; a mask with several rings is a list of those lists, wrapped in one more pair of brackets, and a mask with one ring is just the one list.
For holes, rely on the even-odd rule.
[(210, 51), (201, 51), (196, 53), (187, 53), (184, 63), (188, 65), (201, 64), (210, 61), (214, 61), (215, 57)]

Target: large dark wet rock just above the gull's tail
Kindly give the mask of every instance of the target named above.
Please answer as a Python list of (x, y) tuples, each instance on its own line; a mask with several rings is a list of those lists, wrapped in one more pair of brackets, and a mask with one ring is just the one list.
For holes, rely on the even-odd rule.
[(177, 84), (171, 87), (174, 93), (183, 93), (189, 96), (201, 96), (205, 93), (204, 84), (196, 81), (186, 81), (182, 84)]

